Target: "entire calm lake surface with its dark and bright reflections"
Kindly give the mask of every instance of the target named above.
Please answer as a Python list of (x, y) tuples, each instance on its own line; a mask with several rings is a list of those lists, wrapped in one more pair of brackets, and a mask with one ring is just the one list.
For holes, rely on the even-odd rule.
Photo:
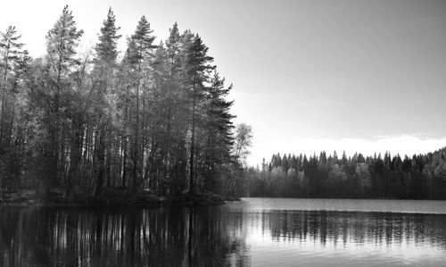
[(0, 207), (0, 266), (444, 266), (446, 202)]

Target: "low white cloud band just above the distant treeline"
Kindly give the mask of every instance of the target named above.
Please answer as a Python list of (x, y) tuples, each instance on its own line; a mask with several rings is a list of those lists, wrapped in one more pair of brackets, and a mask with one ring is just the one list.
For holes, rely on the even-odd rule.
[(266, 144), (254, 144), (252, 154), (248, 158), (248, 163), (252, 165), (260, 164), (263, 157), (268, 160), (272, 154), (319, 154), (326, 151), (333, 154), (334, 151), (340, 156), (343, 151), (347, 155), (356, 152), (364, 155), (384, 154), (389, 151), (391, 154), (425, 154), (434, 152), (446, 146), (446, 137), (433, 138), (427, 134), (404, 134), (390, 136), (376, 136), (373, 138), (342, 138), (342, 139), (317, 139), (305, 138), (292, 142), (270, 141)]

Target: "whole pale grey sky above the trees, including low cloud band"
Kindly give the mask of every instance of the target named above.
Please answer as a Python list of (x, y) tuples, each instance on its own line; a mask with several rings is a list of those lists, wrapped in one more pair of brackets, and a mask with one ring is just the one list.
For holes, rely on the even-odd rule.
[(272, 154), (418, 154), (446, 146), (446, 1), (0, 0), (33, 56), (68, 4), (94, 46), (111, 7), (120, 50), (145, 15), (157, 42), (178, 22), (210, 47), (252, 126), (248, 163)]

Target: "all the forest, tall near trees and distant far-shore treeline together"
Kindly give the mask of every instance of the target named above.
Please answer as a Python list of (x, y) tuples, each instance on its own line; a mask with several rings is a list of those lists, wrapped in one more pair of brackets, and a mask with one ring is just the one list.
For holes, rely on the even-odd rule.
[[(202, 38), (178, 24), (155, 42), (143, 16), (120, 54), (109, 9), (98, 42), (65, 6), (31, 58), (21, 35), (0, 32), (0, 192), (37, 196), (185, 196), (446, 199), (446, 148), (401, 158), (275, 154), (246, 166), (252, 128), (237, 126), (226, 85)], [(127, 193), (126, 193), (127, 194)]]

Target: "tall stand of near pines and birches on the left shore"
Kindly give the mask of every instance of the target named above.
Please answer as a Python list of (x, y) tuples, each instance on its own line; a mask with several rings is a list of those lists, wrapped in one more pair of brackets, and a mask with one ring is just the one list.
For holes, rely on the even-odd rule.
[(202, 38), (175, 23), (155, 43), (143, 16), (120, 56), (115, 21), (110, 9), (98, 43), (79, 52), (83, 31), (65, 6), (38, 58), (14, 27), (1, 34), (1, 188), (63, 188), (69, 198), (105, 188), (234, 188), (242, 131), (226, 99), (232, 85)]

